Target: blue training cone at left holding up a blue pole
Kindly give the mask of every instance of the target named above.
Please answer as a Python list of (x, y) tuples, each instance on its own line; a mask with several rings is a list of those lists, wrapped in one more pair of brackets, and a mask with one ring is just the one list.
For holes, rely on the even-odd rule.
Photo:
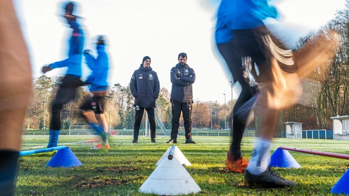
[(69, 147), (58, 150), (46, 164), (49, 167), (79, 167), (81, 165), (80, 160)]

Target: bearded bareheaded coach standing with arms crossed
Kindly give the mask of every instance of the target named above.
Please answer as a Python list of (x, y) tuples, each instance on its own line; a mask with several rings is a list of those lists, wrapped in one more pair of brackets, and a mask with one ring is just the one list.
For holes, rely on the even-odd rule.
[(171, 139), (166, 143), (177, 143), (180, 113), (183, 114), (185, 143), (195, 144), (192, 140), (192, 108), (193, 87), (195, 72), (188, 66), (187, 54), (178, 55), (178, 64), (171, 69), (171, 103), (172, 103), (172, 129)]

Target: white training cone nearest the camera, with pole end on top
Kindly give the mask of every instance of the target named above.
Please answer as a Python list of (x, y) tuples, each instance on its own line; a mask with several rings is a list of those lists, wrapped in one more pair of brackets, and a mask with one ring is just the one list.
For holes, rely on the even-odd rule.
[(172, 160), (167, 157), (163, 159), (138, 190), (157, 195), (184, 195), (200, 191), (198, 184), (175, 156)]

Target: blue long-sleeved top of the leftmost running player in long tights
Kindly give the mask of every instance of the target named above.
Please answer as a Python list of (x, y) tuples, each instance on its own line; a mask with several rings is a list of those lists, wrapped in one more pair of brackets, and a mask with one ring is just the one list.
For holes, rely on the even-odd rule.
[(82, 50), (84, 46), (83, 32), (76, 21), (68, 21), (70, 28), (73, 29), (69, 40), (68, 59), (51, 63), (52, 69), (59, 67), (68, 67), (66, 74), (72, 74), (81, 77)]

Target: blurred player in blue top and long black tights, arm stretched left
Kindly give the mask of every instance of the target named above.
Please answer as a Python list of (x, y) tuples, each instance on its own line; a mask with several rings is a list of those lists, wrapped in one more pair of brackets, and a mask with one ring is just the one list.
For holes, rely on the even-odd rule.
[(70, 100), (75, 98), (76, 89), (84, 83), (80, 80), (81, 77), (81, 61), (82, 50), (84, 45), (83, 32), (80, 25), (76, 22), (76, 16), (73, 15), (74, 4), (69, 2), (65, 6), (64, 16), (73, 29), (69, 40), (68, 59), (51, 63), (42, 68), (45, 74), (54, 68), (68, 67), (65, 77), (62, 79), (60, 88), (56, 93), (56, 97), (52, 103), (52, 116), (50, 123), (50, 137), (47, 148), (57, 146), (58, 136), (61, 129), (61, 111), (63, 106)]

